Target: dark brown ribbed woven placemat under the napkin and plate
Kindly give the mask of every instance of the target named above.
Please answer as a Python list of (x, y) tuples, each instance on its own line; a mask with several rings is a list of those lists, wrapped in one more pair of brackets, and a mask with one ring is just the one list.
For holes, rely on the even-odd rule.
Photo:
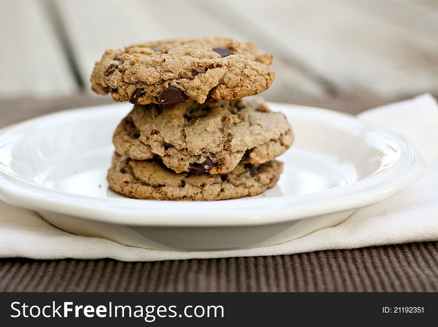
[[(359, 94), (325, 99), (276, 95), (267, 100), (358, 113), (400, 99)], [(0, 100), (0, 127), (109, 102), (87, 94), (39, 102)], [(0, 291), (438, 291), (438, 242), (157, 262), (3, 258)]]

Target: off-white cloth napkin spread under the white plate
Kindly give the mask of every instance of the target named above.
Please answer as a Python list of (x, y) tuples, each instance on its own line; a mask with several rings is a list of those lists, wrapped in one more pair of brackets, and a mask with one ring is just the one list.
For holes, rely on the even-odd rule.
[(407, 138), (426, 162), (414, 184), (379, 204), (356, 210), (347, 220), (282, 244), (222, 251), (159, 251), (121, 245), (60, 230), (37, 213), (0, 201), (0, 257), (154, 261), (292, 254), (326, 249), (438, 239), (438, 106), (430, 95), (367, 110), (359, 119)]

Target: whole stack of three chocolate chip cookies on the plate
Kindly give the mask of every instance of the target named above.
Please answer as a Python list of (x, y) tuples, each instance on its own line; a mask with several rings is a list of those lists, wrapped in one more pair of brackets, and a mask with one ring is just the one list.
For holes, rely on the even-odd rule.
[(292, 144), (285, 116), (261, 98), (272, 55), (228, 38), (107, 50), (92, 90), (134, 104), (113, 135), (109, 187), (155, 200), (224, 200), (274, 186)]

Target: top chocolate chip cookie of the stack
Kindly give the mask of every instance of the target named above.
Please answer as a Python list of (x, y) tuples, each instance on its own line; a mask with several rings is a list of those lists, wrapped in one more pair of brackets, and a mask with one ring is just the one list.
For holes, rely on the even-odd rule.
[(133, 104), (230, 100), (259, 94), (274, 80), (272, 54), (229, 38), (171, 39), (107, 50), (92, 90)]

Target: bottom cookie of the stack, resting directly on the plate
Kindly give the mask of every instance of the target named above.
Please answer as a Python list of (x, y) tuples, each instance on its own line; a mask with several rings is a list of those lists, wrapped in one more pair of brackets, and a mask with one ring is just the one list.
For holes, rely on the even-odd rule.
[(107, 180), (117, 193), (136, 199), (225, 200), (257, 195), (277, 183), (283, 163), (240, 163), (227, 174), (180, 173), (154, 160), (132, 160), (114, 154)]

